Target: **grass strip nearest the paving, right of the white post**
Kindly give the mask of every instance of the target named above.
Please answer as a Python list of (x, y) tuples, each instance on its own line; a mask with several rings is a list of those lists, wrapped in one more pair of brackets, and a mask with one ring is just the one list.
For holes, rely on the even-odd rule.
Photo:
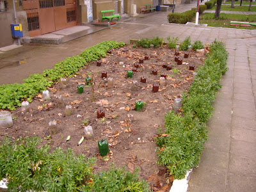
[(256, 15), (239, 15), (221, 13), (219, 19), (214, 19), (214, 13), (203, 13), (200, 15), (198, 23), (208, 24), (212, 27), (237, 28), (237, 29), (256, 29), (256, 26), (242, 27), (230, 26), (230, 20), (256, 22)]

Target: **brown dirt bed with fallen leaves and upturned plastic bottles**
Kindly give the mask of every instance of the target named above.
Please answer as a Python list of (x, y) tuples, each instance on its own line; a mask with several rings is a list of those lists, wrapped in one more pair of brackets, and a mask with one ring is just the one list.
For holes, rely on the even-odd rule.
[[(156, 143), (154, 137), (158, 129), (164, 126), (164, 114), (172, 109), (173, 100), (181, 97), (193, 81), (194, 70), (189, 65), (195, 65), (195, 70), (203, 64), (205, 55), (202, 52), (191, 52), (189, 58), (184, 58), (180, 51), (182, 65), (174, 61), (174, 50), (167, 46), (157, 49), (133, 48), (125, 45), (112, 51), (111, 55), (102, 58), (102, 65), (96, 62), (80, 70), (76, 77), (68, 78), (67, 88), (60, 89), (60, 83), (49, 88), (51, 99), (44, 101), (40, 95), (31, 102), (31, 109), (22, 113), (18, 108), (12, 111), (13, 127), (4, 129), (1, 140), (8, 135), (12, 138), (20, 136), (39, 136), (43, 143), (49, 143), (52, 148), (72, 148), (76, 153), (96, 156), (97, 165), (93, 172), (108, 170), (115, 163), (116, 167), (127, 166), (131, 172), (139, 168), (141, 176), (152, 184), (152, 189), (170, 189), (173, 177), (166, 174), (166, 169), (157, 164)], [(139, 62), (139, 58), (148, 56), (132, 78), (127, 78), (127, 71)], [(123, 62), (123, 63), (122, 63)], [(172, 70), (163, 68), (167, 63)], [(176, 68), (176, 69), (174, 69)], [(152, 74), (157, 70), (157, 75)], [(108, 80), (102, 79), (102, 71), (108, 77), (113, 77), (114, 87), (108, 88)], [(161, 73), (166, 73), (166, 86), (159, 86), (159, 92), (152, 92), (152, 84), (159, 83)], [(95, 102), (92, 102), (92, 87), (86, 86), (85, 77), (92, 76), (95, 81)], [(141, 83), (141, 77), (147, 78), (147, 83)], [(134, 86), (132, 81), (138, 81)], [(77, 84), (84, 84), (84, 93), (77, 93)], [(58, 108), (56, 96), (62, 95), (65, 105), (72, 105), (73, 114), (65, 115), (65, 109)], [(146, 102), (143, 111), (135, 111), (137, 100)], [(97, 110), (104, 109), (106, 118), (97, 118)], [(127, 115), (133, 115), (127, 118)], [(49, 122), (58, 122), (58, 133), (50, 135)], [(91, 125), (95, 140), (84, 140), (84, 126)], [(67, 136), (71, 136), (66, 141)], [(99, 155), (97, 141), (106, 139), (109, 142), (108, 156)]]

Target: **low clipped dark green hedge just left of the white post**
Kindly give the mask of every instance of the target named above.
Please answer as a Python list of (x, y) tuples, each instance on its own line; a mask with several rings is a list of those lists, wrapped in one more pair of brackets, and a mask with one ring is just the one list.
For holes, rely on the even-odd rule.
[(195, 17), (195, 15), (195, 10), (189, 10), (183, 13), (169, 13), (167, 15), (167, 19), (168, 22), (186, 24), (187, 22), (190, 22), (193, 19), (193, 17)]

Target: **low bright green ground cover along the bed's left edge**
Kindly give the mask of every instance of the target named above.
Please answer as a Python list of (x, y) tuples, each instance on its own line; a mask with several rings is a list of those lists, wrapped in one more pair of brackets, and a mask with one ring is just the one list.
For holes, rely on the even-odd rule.
[(106, 56), (109, 49), (124, 46), (124, 42), (101, 42), (81, 52), (79, 56), (67, 58), (54, 66), (54, 69), (44, 70), (42, 74), (33, 74), (24, 79), (24, 83), (3, 84), (0, 86), (0, 109), (14, 110), (15, 106), (21, 106), (23, 100), (31, 102), (39, 92), (52, 86), (61, 77), (70, 77), (86, 63), (99, 60)]

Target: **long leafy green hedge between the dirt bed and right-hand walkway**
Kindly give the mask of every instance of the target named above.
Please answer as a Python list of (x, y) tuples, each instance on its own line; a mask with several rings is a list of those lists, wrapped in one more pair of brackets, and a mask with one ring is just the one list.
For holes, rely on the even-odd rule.
[[(170, 170), (175, 179), (182, 179), (196, 166), (207, 140), (205, 123), (211, 117), (215, 93), (227, 71), (227, 56), (223, 43), (214, 41), (204, 66), (182, 95), (182, 115), (170, 111), (165, 116), (165, 131), (156, 138), (158, 162)], [(167, 136), (166, 136), (167, 134)]]

